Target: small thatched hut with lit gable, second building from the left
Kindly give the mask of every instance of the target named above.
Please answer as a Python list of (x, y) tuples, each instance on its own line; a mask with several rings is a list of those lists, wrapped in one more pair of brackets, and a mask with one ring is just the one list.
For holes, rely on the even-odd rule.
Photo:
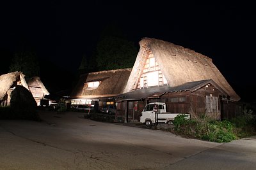
[(40, 80), (40, 77), (34, 76), (32, 78), (29, 78), (28, 80), (28, 87), (31, 91), (37, 106), (40, 105), (40, 100), (45, 99), (45, 95), (49, 95), (50, 93), (45, 88), (44, 83)]

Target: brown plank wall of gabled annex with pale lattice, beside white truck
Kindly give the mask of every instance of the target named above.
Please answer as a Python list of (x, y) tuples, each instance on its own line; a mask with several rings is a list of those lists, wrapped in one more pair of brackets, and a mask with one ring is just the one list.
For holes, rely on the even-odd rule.
[(168, 92), (160, 99), (150, 102), (166, 103), (166, 111), (171, 113), (190, 113), (191, 117), (207, 114), (216, 120), (221, 119), (220, 96), (223, 96), (213, 85), (205, 85), (194, 92)]

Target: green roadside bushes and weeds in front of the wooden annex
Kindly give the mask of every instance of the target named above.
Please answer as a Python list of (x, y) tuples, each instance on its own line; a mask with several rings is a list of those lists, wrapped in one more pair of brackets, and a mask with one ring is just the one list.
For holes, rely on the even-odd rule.
[(186, 115), (178, 115), (173, 120), (170, 131), (187, 138), (226, 143), (256, 135), (256, 114), (246, 105), (241, 115), (230, 120), (212, 120), (207, 114), (193, 119), (187, 119)]

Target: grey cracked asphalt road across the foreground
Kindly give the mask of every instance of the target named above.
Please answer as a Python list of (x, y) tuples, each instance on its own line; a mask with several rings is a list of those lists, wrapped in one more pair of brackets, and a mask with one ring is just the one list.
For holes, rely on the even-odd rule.
[(41, 111), (0, 120), (0, 169), (256, 169), (256, 136), (230, 143)]

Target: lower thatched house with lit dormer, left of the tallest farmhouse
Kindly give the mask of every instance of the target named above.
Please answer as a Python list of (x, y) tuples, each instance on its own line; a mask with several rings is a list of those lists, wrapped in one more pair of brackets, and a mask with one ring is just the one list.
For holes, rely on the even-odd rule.
[(114, 104), (113, 97), (123, 93), (130, 74), (130, 68), (82, 74), (70, 95), (71, 104)]

